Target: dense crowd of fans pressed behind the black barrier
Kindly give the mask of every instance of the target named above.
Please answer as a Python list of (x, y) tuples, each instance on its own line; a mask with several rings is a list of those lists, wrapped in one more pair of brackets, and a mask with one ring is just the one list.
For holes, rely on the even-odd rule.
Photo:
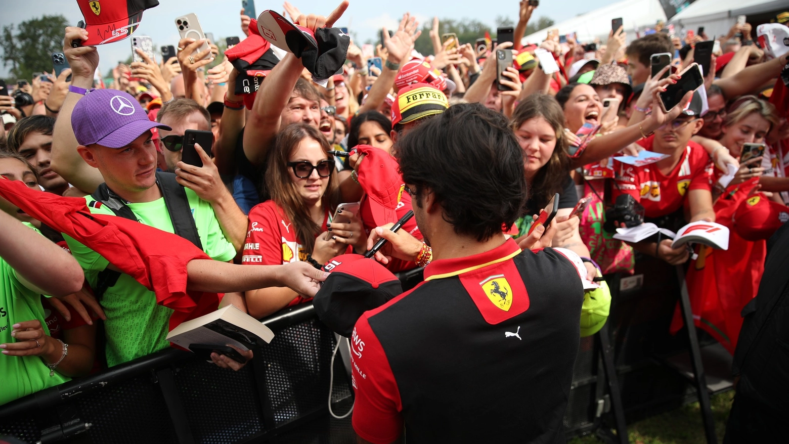
[[(226, 293), (222, 304), (235, 304), (262, 318), (311, 300), (315, 281), (323, 278), (316, 269), (335, 256), (364, 253), (374, 238), (391, 237), (376, 227), (395, 222), (412, 208), (424, 214), (417, 211), (417, 220), (402, 232), (418, 241), (416, 247), (404, 246), (410, 238), (398, 242), (391, 237), (387, 256), (376, 257), (393, 272), (428, 264), (429, 246), (435, 243), (430, 235), (439, 239), (443, 234), (432, 226), (428, 233), (417, 222), (429, 219), (435, 203), (424, 189), (435, 191), (441, 185), (431, 185), (427, 176), (414, 172), (414, 156), (420, 144), (428, 144), (436, 134), (455, 140), (453, 134), (463, 127), (484, 134), (494, 128), (488, 140), (473, 141), (475, 148), (490, 144), (491, 152), (481, 157), (454, 152), (461, 150), (462, 141), (442, 148), (447, 159), (472, 164), (436, 161), (439, 164), (428, 166), (450, 168), (473, 181), (455, 188), (447, 185), (441, 192), (457, 194), (469, 205), (489, 211), (492, 218), (501, 217), (494, 222), (506, 225), (504, 235), (524, 250), (553, 247), (574, 252), (583, 260), (582, 278), (589, 281), (615, 272), (632, 274), (643, 256), (671, 265), (690, 264), (694, 313), (704, 318), (702, 300), (717, 301), (716, 311), (724, 313), (716, 319), (720, 328), (712, 330), (719, 334), (713, 336), (734, 353), (742, 325), (739, 312), (757, 294), (766, 240), (780, 226), (768, 217), (780, 222), (789, 218), (789, 207), (784, 206), (789, 199), (789, 94), (780, 78), (782, 69), (789, 78), (786, 43), (772, 54), (757, 44), (751, 24), (735, 24), (718, 38), (720, 49), (712, 55), (709, 73), (704, 73), (704, 86), (666, 111), (660, 106), (660, 92), (680, 80), (678, 73), (694, 62), (694, 45), (712, 40), (708, 35), (671, 35), (658, 24), (630, 42), (619, 28), (593, 48), (576, 42), (574, 35), (560, 43), (552, 32), (542, 43), (526, 44), (522, 34), (536, 8), (529, 3), (521, 2), (513, 42), (488, 41), (481, 48), (456, 40), (442, 42), (439, 21), (434, 20), (434, 55), (427, 56), (413, 49), (421, 31), (406, 13), (391, 35), (381, 33), (383, 41), (375, 54), (350, 42), (342, 69), (325, 81), (317, 81), (315, 69), (297, 55), (271, 47), (258, 31), (257, 17), (242, 11), (241, 31), (247, 39), (225, 54), (214, 42), (201, 51), (205, 42), (194, 39), (181, 39), (177, 56), (169, 60), (157, 61), (138, 50), (142, 62), (119, 64), (111, 84), (102, 89), (94, 79), (99, 50), (72, 45), (74, 40), (87, 40), (88, 32), (65, 28), (62, 51), (69, 69), (57, 77), (43, 74), (16, 87), (9, 85), (13, 90), (0, 95), (5, 127), (0, 132), (0, 175), (41, 192), (84, 196), (94, 214), (118, 214), (110, 205), (101, 205), (104, 190), (110, 200), (129, 207), (138, 222), (184, 237), (166, 203), (160, 176), (174, 173), (185, 190), (200, 248), (215, 261), (239, 264), (232, 269), (201, 268), (202, 278), (190, 267), (191, 288)], [(331, 28), (346, 7), (343, 2), (322, 17), (285, 4), (290, 20), (312, 32)], [(513, 65), (501, 73), (497, 50), (511, 50), (514, 56)], [(536, 50), (552, 54), (559, 71), (545, 73)], [(664, 53), (675, 57), (653, 76), (651, 58)], [(383, 62), (380, 68), (368, 65), (373, 56)], [(256, 77), (239, 61), (271, 65)], [(249, 90), (250, 79), (260, 84), (256, 91)], [(29, 100), (15, 102), (23, 93)], [(603, 105), (608, 99), (615, 99), (611, 110)], [(431, 132), (421, 129), (439, 118), (442, 125), (433, 124)], [(508, 124), (499, 129), (497, 119), (507, 119)], [(446, 132), (452, 125), (458, 125), (454, 133)], [(213, 133), (211, 147), (195, 147), (202, 166), (181, 159), (187, 130)], [(424, 141), (409, 134), (417, 130)], [(494, 140), (498, 145), (492, 144)], [(520, 146), (528, 193), (522, 201), (521, 196), (501, 192), (500, 196), (513, 197), (509, 202), (481, 202), (477, 190), (493, 186), (488, 181), (499, 178), (475, 176), (473, 170), (481, 165), (474, 162), (501, 162), (503, 154), (496, 150), (510, 140)], [(743, 144), (753, 143), (765, 144), (764, 155), (741, 163)], [(440, 140), (431, 144), (443, 146)], [(402, 173), (405, 192), (401, 184), (383, 191), (375, 185), (372, 176), (387, 173), (364, 171), (365, 159), (369, 163), (376, 156), (365, 155), (368, 148), (356, 149), (358, 145), (402, 162), (392, 171)], [(642, 166), (612, 159), (644, 150), (667, 157)], [(425, 156), (424, 162), (429, 162)], [(509, 173), (506, 166), (496, 167), (494, 176)], [(731, 172), (734, 178), (721, 185), (720, 177)], [(376, 212), (337, 211), (340, 203), (377, 202), (379, 195), (392, 192), (396, 205), (388, 220)], [(535, 218), (555, 193), (560, 196), (556, 217), (532, 233)], [(730, 227), (729, 250), (712, 251), (703, 245), (672, 248), (667, 238), (634, 244), (616, 240), (612, 236), (622, 221), (611, 220), (615, 216), (610, 209), (625, 195), (643, 207), (646, 222), (663, 228), (676, 231), (694, 221)], [(437, 199), (446, 202), (443, 217), (458, 236), (498, 238), (501, 233), (494, 236), (470, 222), (464, 225), (464, 218), (471, 220), (476, 213), (447, 196)], [(579, 200), (585, 207), (574, 213)], [(516, 203), (512, 210), (500, 208)], [(7, 378), (0, 404), (169, 345), (165, 337), (173, 311), (156, 304), (151, 289), (128, 274), (107, 278), (114, 264), (94, 248), (42, 224), (9, 200), (0, 197), (0, 209), (0, 374)], [(510, 213), (513, 220), (507, 219)], [(43, 257), (47, 260), (41, 261)], [(252, 273), (250, 266), (291, 263), (298, 266), (278, 268), (270, 275), (257, 268), (261, 271), (253, 278), (233, 281)], [(219, 278), (222, 273), (228, 274)], [(98, 324), (102, 328), (97, 333)], [(572, 341), (557, 344), (573, 346)], [(252, 352), (243, 354), (249, 358)], [(224, 368), (243, 365), (227, 356), (211, 357)], [(569, 364), (571, 371), (572, 360)], [(358, 399), (373, 405), (384, 402), (370, 401), (369, 394), (357, 394)], [(363, 438), (397, 438), (398, 423), (389, 431), (393, 435), (376, 435), (376, 421), (380, 425), (388, 419), (362, 415), (354, 425)], [(406, 425), (419, 423), (413, 415), (406, 415)], [(561, 421), (545, 424), (560, 427)]]

